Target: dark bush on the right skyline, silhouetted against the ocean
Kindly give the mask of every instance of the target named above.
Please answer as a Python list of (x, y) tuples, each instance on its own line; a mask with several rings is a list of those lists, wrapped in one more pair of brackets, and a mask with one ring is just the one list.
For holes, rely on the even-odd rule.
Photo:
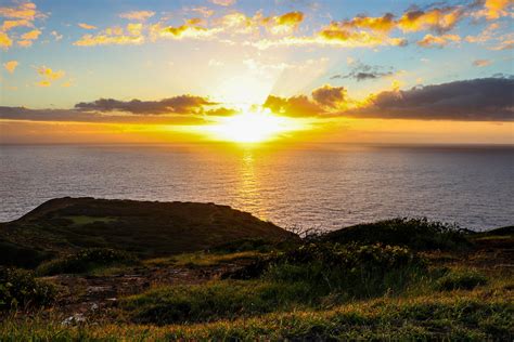
[(404, 246), (413, 250), (455, 250), (470, 248), (468, 233), (455, 224), (431, 222), (426, 218), (399, 218), (331, 232), (321, 239), (338, 244)]

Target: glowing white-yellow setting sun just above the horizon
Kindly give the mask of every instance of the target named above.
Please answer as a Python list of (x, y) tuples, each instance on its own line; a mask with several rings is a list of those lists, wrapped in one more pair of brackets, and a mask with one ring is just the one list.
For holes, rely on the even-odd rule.
[(278, 117), (269, 110), (244, 110), (241, 114), (221, 118), (206, 128), (216, 140), (236, 143), (261, 143), (279, 137), (282, 133), (297, 130), (291, 119)]

